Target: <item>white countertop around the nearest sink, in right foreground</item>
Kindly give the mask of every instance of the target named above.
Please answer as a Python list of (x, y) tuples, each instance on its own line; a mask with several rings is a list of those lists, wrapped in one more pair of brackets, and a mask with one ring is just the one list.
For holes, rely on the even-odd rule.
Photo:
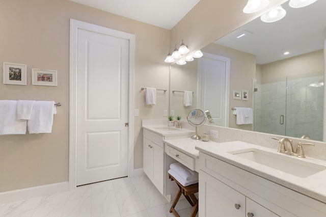
[[(184, 146), (184, 145), (183, 145)], [(206, 153), (212, 157), (218, 158), (225, 162), (228, 162), (231, 165), (234, 165), (238, 168), (256, 174), (260, 177), (263, 177), (267, 180), (273, 181), (285, 187), (288, 187), (296, 192), (307, 195), (311, 198), (319, 200), (323, 203), (326, 203), (326, 170), (315, 173), (308, 177), (297, 177), (285, 172), (281, 172), (277, 169), (273, 169), (257, 162), (244, 159), (242, 157), (233, 155), (228, 152), (247, 149), (247, 148), (257, 148), (260, 150), (273, 152), (276, 154), (284, 155), (283, 153), (278, 153), (275, 149), (270, 149), (258, 145), (253, 145), (250, 143), (235, 141), (235, 142), (226, 142), (226, 143), (198, 143), (196, 144), (195, 149)], [(289, 156), (293, 158), (298, 158), (296, 156)], [(326, 161), (315, 159), (315, 158), (303, 158), (301, 159), (306, 162), (311, 162), (313, 164), (318, 164), (326, 166)]]

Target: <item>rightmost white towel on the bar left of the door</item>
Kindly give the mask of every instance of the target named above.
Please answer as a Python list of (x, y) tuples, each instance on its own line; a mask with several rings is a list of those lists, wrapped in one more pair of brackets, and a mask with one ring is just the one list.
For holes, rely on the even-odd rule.
[(50, 133), (52, 131), (53, 115), (57, 114), (55, 102), (35, 101), (31, 120), (28, 121), (30, 133)]

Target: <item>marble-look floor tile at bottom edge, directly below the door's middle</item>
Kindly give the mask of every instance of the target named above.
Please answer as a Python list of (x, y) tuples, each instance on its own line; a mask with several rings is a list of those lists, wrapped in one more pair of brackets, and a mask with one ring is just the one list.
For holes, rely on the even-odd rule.
[(115, 192), (104, 192), (92, 196), (92, 217), (120, 217)]

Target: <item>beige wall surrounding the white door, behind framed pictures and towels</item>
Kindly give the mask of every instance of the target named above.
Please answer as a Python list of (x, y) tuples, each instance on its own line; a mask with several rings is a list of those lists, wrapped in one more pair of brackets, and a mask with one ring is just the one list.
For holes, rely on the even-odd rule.
[[(52, 133), (0, 136), (0, 192), (68, 181), (69, 151), (69, 19), (106, 26), (135, 35), (134, 168), (142, 168), (141, 119), (160, 118), (169, 109), (169, 94), (158, 94), (146, 106), (141, 87), (169, 88), (164, 64), (170, 31), (82, 6), (68, 0), (0, 1), (0, 61), (28, 66), (28, 85), (4, 85), (0, 99), (61, 102)], [(155, 50), (148, 53), (147, 48)], [(2, 71), (2, 67), (0, 67)], [(31, 69), (58, 70), (58, 87), (32, 86)], [(0, 73), (2, 74), (2, 73)]]

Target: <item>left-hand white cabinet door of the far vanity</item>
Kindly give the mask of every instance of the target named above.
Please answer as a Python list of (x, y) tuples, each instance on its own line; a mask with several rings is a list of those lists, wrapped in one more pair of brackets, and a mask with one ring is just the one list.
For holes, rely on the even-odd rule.
[(153, 145), (144, 138), (143, 142), (143, 170), (150, 180), (153, 178)]

